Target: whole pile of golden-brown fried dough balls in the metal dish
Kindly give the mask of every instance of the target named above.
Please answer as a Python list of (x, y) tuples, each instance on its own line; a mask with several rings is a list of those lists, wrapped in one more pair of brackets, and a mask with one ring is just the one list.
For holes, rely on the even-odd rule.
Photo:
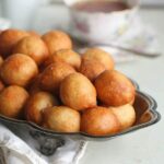
[(112, 56), (83, 55), (61, 31), (0, 33), (0, 114), (57, 132), (115, 134), (136, 121), (136, 90)]

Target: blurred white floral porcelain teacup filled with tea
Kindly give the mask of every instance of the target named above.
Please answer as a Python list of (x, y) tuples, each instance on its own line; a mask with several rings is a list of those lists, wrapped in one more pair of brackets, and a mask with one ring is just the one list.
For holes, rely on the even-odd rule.
[[(138, 14), (139, 0), (65, 0), (71, 13), (70, 33), (83, 42), (107, 44), (124, 35)], [(105, 2), (104, 7), (101, 7)], [(121, 2), (120, 9), (107, 9), (107, 4)], [(96, 4), (94, 10), (93, 4)], [(95, 5), (95, 4), (94, 4)], [(104, 9), (103, 9), (104, 8)]]

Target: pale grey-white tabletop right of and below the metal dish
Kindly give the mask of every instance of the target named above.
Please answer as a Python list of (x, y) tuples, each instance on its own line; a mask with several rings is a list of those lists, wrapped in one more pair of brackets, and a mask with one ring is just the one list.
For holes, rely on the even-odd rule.
[[(142, 10), (145, 23), (154, 26), (164, 46), (164, 9)], [(164, 52), (164, 49), (163, 49)], [(143, 92), (151, 94), (164, 114), (164, 56), (121, 63), (117, 69), (137, 80)], [(80, 164), (162, 164), (164, 163), (164, 119), (159, 124), (127, 136), (104, 141), (90, 142)]]

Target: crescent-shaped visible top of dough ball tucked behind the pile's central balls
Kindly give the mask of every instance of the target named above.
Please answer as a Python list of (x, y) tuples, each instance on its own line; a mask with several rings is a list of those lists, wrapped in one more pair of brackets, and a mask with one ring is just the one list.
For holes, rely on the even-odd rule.
[(48, 66), (56, 61), (63, 61), (68, 65), (72, 66), (74, 69), (79, 69), (81, 65), (81, 58), (80, 55), (71, 49), (61, 49), (56, 51), (54, 55), (51, 55), (47, 61), (45, 62), (45, 66)]

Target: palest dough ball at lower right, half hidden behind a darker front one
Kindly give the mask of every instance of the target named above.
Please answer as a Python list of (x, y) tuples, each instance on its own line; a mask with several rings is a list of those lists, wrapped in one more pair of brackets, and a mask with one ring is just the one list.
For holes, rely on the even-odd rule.
[(119, 107), (109, 107), (109, 109), (118, 118), (121, 125), (121, 130), (125, 130), (134, 124), (136, 112), (134, 112), (134, 108), (130, 104), (119, 106)]

